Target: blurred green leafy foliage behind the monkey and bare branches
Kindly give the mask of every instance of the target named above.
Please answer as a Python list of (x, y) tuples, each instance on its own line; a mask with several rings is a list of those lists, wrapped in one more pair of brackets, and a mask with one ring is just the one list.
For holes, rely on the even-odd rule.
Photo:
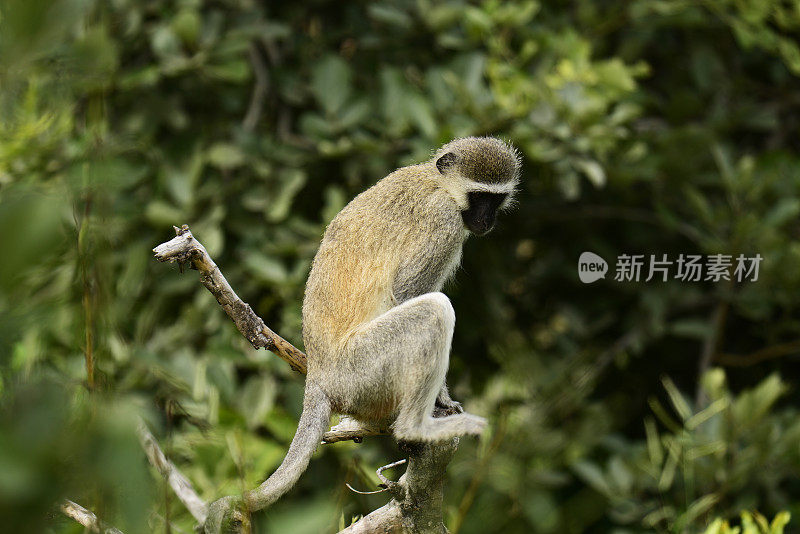
[[(191, 532), (137, 415), (204, 498), (262, 481), (302, 378), (151, 248), (190, 224), (299, 344), (327, 222), (485, 134), (524, 171), (446, 288), (451, 389), (492, 430), (448, 469), (451, 532), (798, 518), (798, 32), (797, 0), (0, 0), (0, 529), (81, 532), (68, 497), (127, 533)], [(612, 273), (764, 260), (757, 282), (584, 285), (586, 250)], [(323, 447), (258, 531), (349, 524), (386, 497), (344, 483), (400, 457)]]

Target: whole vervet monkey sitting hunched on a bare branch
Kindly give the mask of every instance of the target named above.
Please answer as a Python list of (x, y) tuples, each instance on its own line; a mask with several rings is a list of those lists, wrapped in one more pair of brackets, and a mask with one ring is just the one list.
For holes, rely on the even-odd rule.
[(303, 414), (281, 466), (245, 494), (251, 510), (294, 485), (332, 412), (391, 422), (394, 436), (407, 441), (484, 429), (486, 420), (468, 413), (432, 417), (437, 399), (458, 407), (445, 387), (456, 317), (440, 290), (467, 235), (489, 232), (509, 205), (519, 172), (517, 152), (499, 139), (456, 139), (429, 161), (386, 176), (333, 219), (303, 301)]

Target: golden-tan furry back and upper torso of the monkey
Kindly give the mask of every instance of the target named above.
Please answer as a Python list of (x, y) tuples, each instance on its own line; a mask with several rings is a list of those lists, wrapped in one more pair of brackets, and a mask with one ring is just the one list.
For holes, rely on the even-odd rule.
[(457, 267), (465, 232), (438, 176), (433, 164), (398, 169), (331, 221), (303, 300), (310, 366), (335, 355), (359, 325), (441, 289)]

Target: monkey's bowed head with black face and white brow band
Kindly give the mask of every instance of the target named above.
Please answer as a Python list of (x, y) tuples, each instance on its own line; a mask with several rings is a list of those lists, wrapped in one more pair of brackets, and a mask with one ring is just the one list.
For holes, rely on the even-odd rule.
[(463, 137), (440, 148), (433, 161), (464, 226), (476, 235), (489, 232), (497, 211), (508, 207), (516, 193), (517, 151), (494, 137)]

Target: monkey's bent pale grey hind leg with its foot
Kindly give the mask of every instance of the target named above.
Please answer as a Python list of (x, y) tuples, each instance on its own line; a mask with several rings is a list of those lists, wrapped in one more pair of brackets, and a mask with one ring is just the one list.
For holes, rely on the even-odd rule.
[[(444, 385), (455, 328), (453, 306), (443, 293), (427, 293), (396, 306), (370, 323), (358, 343), (385, 358), (381, 382), (397, 399), (394, 435), (406, 441), (444, 441), (478, 435), (482, 417), (468, 413), (433, 418)], [(380, 346), (376, 346), (380, 345)], [(369, 349), (368, 349), (369, 350)]]

